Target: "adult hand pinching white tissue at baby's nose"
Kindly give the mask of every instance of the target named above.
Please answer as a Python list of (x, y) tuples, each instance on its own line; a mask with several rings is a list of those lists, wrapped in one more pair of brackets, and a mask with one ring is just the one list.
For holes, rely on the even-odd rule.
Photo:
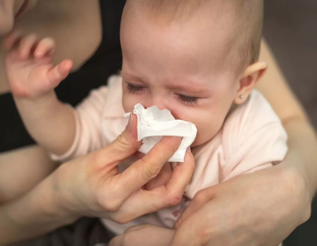
[(136, 124), (137, 117), (132, 114), (126, 130), (108, 147), (56, 170), (55, 193), (64, 198), (61, 204), (64, 209), (127, 223), (180, 202), (194, 170), (190, 151), (186, 153), (185, 162), (175, 167), (169, 182), (152, 190), (142, 189), (178, 149), (179, 137), (163, 137), (147, 155), (118, 174), (118, 164), (133, 155), (141, 144), (137, 141)]

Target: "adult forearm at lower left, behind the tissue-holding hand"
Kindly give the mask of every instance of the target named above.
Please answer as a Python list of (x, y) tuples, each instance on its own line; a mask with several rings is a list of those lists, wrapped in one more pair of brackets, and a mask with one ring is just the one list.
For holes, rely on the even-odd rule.
[(0, 245), (43, 235), (76, 217), (63, 210), (54, 196), (51, 179), (46, 179), (23, 198), (0, 208)]

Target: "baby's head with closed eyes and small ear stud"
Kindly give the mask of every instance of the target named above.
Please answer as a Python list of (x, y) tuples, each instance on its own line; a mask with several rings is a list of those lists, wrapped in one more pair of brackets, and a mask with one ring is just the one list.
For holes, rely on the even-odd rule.
[(262, 18), (263, 0), (127, 0), (126, 112), (156, 105), (197, 126), (193, 146), (212, 139), (266, 69), (257, 62)]

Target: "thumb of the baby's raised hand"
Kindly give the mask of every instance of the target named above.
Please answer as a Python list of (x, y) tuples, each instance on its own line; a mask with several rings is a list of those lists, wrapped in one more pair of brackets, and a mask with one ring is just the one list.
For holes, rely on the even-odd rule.
[(65, 79), (70, 69), (73, 66), (73, 62), (69, 59), (62, 61), (57, 66), (48, 71), (48, 79), (52, 88), (55, 88), (63, 79)]

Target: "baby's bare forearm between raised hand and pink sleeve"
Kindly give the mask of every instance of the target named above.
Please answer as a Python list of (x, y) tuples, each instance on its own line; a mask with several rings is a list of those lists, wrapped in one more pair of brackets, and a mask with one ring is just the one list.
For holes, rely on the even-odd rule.
[(71, 147), (75, 136), (74, 109), (58, 101), (54, 91), (38, 99), (15, 97), (15, 102), (37, 143), (57, 155)]

